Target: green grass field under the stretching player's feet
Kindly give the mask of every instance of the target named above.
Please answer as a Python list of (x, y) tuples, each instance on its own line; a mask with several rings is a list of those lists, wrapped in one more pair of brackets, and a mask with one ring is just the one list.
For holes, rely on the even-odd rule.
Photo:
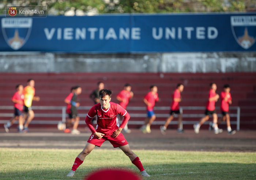
[[(120, 149), (95, 149), (66, 177), (78, 149), (0, 148), (0, 179), (83, 179), (98, 168), (125, 168), (138, 172)], [(256, 179), (256, 153), (134, 150), (151, 177), (167, 179)]]

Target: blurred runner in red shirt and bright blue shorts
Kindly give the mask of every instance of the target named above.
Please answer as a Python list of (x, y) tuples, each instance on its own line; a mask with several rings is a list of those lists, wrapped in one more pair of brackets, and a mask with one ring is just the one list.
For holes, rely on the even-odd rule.
[(158, 102), (158, 93), (157, 93), (157, 86), (152, 85), (150, 87), (150, 92), (144, 97), (143, 102), (147, 106), (147, 118), (145, 120), (145, 124), (140, 128), (143, 133), (151, 133), (150, 126), (155, 120), (155, 113), (153, 108), (155, 106), (155, 102)]

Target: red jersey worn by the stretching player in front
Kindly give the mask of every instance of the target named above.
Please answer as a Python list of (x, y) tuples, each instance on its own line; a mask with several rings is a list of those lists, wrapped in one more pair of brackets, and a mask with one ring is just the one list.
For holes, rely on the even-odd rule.
[[(121, 125), (118, 123), (118, 114), (124, 117), (124, 120)], [(101, 104), (95, 104), (90, 111), (87, 113), (85, 122), (90, 128), (92, 133), (95, 133), (96, 130), (91, 123), (91, 119), (96, 116), (97, 126), (96, 130), (98, 133), (103, 133), (105, 135), (112, 134), (118, 127), (124, 128), (130, 115), (128, 112), (121, 107), (119, 104), (109, 102), (109, 108), (107, 110), (102, 109)]]

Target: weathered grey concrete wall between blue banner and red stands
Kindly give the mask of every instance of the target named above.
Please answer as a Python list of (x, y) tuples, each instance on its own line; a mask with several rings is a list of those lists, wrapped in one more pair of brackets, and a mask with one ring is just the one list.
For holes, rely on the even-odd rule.
[(1, 52), (0, 72), (256, 72), (256, 52), (156, 54)]

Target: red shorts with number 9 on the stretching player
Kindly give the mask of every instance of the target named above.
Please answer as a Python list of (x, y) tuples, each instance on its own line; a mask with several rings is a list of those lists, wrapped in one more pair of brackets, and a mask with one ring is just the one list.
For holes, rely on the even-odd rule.
[(94, 134), (91, 134), (87, 142), (95, 146), (101, 147), (102, 143), (105, 141), (109, 141), (114, 148), (128, 144), (122, 133), (120, 133), (116, 138), (111, 137), (111, 135), (104, 135), (101, 139), (98, 139)]

